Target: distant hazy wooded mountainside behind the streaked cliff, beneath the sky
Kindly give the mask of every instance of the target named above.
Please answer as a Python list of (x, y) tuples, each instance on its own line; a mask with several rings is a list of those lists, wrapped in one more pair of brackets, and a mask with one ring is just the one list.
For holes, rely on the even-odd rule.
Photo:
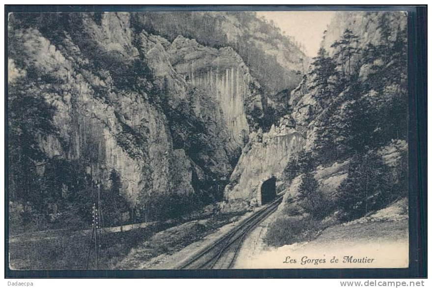
[(286, 113), (289, 93), (310, 62), (292, 38), (255, 12), (144, 12), (134, 17), (138, 25), (170, 41), (183, 35), (214, 48), (232, 47), (261, 85), (265, 108), (269, 106), (265, 112), (269, 117), (276, 113), (276, 120)]

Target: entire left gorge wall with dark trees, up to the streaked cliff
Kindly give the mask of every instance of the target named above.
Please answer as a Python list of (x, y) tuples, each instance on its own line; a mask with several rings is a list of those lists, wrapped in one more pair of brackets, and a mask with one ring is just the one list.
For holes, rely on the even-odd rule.
[(233, 48), (154, 32), (134, 13), (10, 15), (12, 201), (85, 219), (97, 190), (133, 218), (220, 199), (266, 97)]

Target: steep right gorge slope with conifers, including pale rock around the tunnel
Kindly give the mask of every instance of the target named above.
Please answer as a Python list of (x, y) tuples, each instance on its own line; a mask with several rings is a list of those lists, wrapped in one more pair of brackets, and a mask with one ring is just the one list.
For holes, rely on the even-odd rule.
[[(259, 197), (271, 173), (286, 189), (284, 203), (297, 203), (291, 211), (303, 205), (303, 213), (314, 217), (338, 209), (361, 216), (406, 196), (405, 28), (401, 12), (337, 13), (324, 32), (323, 49), (291, 92), (292, 113), (272, 128), (298, 141), (286, 145), (270, 132), (262, 135), (263, 144), (251, 141), (225, 198)], [(263, 160), (269, 150), (284, 157)], [(284, 205), (281, 214), (288, 213)]]

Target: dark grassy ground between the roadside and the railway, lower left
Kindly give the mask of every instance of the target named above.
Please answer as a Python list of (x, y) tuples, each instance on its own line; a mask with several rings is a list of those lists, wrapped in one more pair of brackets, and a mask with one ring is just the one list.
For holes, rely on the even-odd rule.
[[(164, 222), (149, 228), (104, 233), (97, 268), (133, 269), (138, 263), (181, 250), (231, 222), (234, 216), (236, 215), (220, 214), (183, 224)], [(90, 237), (88, 233), (61, 230), (56, 231), (53, 237), (9, 242), (10, 267), (18, 270), (85, 269)], [(94, 250), (91, 253), (88, 268), (96, 269)], [(121, 265), (118, 267), (119, 263)]]

